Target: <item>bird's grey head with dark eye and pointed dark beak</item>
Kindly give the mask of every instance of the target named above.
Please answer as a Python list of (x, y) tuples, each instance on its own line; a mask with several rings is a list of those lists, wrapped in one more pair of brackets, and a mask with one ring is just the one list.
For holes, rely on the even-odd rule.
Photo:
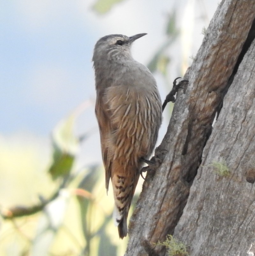
[(100, 38), (94, 48), (92, 58), (94, 66), (104, 61), (125, 62), (127, 59), (132, 58), (130, 51), (132, 43), (144, 35), (147, 35), (147, 33), (133, 36), (106, 35)]

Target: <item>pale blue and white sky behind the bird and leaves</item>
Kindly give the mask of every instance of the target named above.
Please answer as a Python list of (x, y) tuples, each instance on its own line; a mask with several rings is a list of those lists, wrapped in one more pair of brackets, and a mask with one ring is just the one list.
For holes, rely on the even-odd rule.
[[(166, 23), (177, 11), (180, 37), (168, 50), (169, 79), (191, 65), (218, 1), (125, 0), (104, 15), (93, 10), (95, 0), (0, 0), (0, 151), (27, 143), (49, 157), (50, 136), (57, 123), (84, 102), (89, 106), (77, 120), (76, 134), (89, 133), (78, 154), (80, 165), (102, 163), (92, 68), (97, 40), (109, 34), (148, 33), (137, 40), (133, 57), (148, 64), (165, 42)], [(155, 74), (164, 100), (171, 88)], [(169, 113), (159, 134), (161, 142)], [(1, 153), (1, 152), (0, 152)], [(0, 165), (1, 166), (1, 165)]]

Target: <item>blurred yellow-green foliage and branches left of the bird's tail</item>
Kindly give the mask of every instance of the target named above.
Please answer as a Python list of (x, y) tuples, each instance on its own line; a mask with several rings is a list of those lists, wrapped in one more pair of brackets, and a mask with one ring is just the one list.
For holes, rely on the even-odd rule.
[(119, 240), (113, 225), (113, 195), (106, 195), (103, 169), (75, 167), (79, 144), (88, 137), (74, 134), (76, 118), (74, 112), (53, 131), (52, 163), (43, 175), (50, 174), (57, 192), (52, 188), (52, 195), (40, 195), (36, 202), (19, 201), (17, 206), (1, 208), (0, 255), (114, 256), (124, 252), (127, 241)]

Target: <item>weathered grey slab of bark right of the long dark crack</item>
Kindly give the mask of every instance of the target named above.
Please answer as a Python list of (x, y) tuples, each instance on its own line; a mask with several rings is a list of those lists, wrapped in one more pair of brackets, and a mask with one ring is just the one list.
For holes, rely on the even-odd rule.
[[(228, 90), (174, 235), (190, 255), (255, 253), (255, 41)], [(226, 162), (230, 176), (213, 161)], [(250, 254), (249, 254), (250, 253)]]

